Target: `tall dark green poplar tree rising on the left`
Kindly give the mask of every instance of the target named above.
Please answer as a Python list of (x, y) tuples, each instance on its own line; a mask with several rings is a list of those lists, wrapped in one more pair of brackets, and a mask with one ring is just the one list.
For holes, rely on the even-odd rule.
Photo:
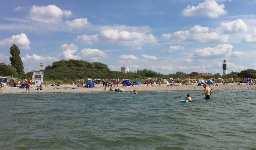
[(23, 66), (23, 62), (19, 56), (20, 51), (17, 45), (13, 44), (10, 48), (10, 53), (11, 53), (11, 57), (10, 57), (10, 61), (11, 61), (11, 65), (17, 69), (17, 73), (20, 76), (22, 76), (24, 74), (24, 66)]

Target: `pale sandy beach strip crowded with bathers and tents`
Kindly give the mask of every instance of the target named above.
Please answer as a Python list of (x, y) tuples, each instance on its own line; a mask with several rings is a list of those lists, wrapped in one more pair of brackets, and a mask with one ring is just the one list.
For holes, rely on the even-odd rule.
[[(203, 91), (203, 86), (197, 86), (196, 83), (192, 85), (183, 85), (177, 84), (180, 86), (167, 86), (168, 84), (163, 85), (155, 85), (155, 86), (147, 86), (147, 85), (134, 85), (134, 87), (121, 87), (123, 91), (104, 91), (103, 85), (95, 85), (95, 88), (77, 88), (76, 85), (61, 85), (59, 89), (53, 89), (50, 85), (46, 85), (43, 87), (43, 90), (34, 90), (35, 85), (31, 85), (30, 93), (63, 93), (63, 92), (133, 92), (136, 90), (139, 91)], [(215, 85), (208, 85), (209, 88), (213, 90), (256, 90), (256, 85), (237, 85), (237, 83), (229, 83), (228, 85), (215, 86)], [(72, 89), (72, 88), (76, 89)], [(113, 87), (115, 89), (116, 87)], [(110, 87), (108, 87), (110, 89)], [(5, 86), (2, 88), (1, 93), (26, 93), (26, 89), (23, 88), (12, 88), (11, 86)]]

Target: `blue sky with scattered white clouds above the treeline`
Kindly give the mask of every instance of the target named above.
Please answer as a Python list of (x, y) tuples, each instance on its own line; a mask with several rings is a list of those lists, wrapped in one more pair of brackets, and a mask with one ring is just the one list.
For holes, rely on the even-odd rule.
[(256, 69), (255, 0), (1, 1), (0, 63), (61, 59), (163, 74)]

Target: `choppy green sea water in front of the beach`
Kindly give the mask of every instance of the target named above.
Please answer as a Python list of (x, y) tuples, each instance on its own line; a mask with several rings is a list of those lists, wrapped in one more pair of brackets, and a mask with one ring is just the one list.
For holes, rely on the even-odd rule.
[(255, 91), (201, 93), (1, 94), (0, 149), (254, 149)]

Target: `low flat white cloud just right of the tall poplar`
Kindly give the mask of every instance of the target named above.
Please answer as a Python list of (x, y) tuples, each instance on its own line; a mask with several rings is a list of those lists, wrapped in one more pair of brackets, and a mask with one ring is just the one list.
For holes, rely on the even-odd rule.
[(23, 62), (42, 62), (42, 61), (57, 61), (58, 59), (56, 57), (43, 57), (36, 54), (32, 54), (29, 56), (28, 54), (25, 57), (21, 57)]

